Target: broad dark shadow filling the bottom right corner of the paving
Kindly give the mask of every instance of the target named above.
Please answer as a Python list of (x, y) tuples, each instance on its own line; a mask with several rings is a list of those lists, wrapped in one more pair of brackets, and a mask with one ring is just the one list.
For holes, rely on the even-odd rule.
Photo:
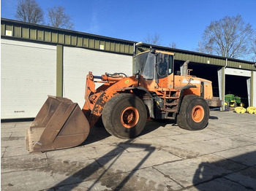
[(256, 190), (255, 161), (256, 151), (214, 163), (200, 163), (193, 185), (198, 190)]

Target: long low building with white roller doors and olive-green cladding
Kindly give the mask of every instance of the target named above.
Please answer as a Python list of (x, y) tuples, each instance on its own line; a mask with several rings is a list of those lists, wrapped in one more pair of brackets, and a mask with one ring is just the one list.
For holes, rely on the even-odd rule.
[[(135, 53), (150, 44), (1, 18), (1, 119), (35, 117), (47, 95), (84, 103), (86, 75), (132, 75)], [(192, 75), (213, 82), (214, 96), (239, 95), (256, 106), (255, 63), (154, 46), (175, 53), (175, 70), (189, 60)]]

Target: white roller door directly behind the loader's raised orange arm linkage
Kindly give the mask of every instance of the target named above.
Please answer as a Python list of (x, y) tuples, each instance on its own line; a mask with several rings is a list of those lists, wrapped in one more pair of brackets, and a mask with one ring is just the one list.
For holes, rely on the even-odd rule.
[(123, 72), (132, 75), (132, 56), (83, 48), (64, 47), (64, 97), (84, 104), (86, 75), (89, 71), (100, 76), (108, 73)]

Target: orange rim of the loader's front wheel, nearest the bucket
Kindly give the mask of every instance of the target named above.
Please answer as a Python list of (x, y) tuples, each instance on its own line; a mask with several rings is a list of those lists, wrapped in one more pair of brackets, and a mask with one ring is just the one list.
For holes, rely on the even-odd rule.
[(121, 112), (120, 119), (125, 128), (133, 128), (138, 123), (139, 112), (135, 107), (129, 106)]

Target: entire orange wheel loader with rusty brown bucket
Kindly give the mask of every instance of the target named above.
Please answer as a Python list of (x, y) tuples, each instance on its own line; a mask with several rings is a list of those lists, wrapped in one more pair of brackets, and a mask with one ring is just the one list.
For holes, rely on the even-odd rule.
[(174, 74), (174, 54), (151, 49), (135, 55), (131, 77), (89, 71), (83, 109), (68, 98), (48, 95), (26, 131), (28, 152), (78, 146), (101, 120), (108, 133), (121, 139), (138, 136), (148, 119), (176, 120), (187, 130), (206, 128), (209, 106), (221, 106), (221, 101), (213, 98), (211, 81), (189, 74), (188, 62), (183, 74)]

